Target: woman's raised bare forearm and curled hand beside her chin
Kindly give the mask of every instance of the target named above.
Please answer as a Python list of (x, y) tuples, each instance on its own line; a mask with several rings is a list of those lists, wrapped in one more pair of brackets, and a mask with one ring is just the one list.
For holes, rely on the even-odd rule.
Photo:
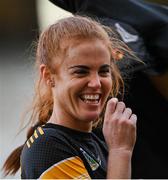
[(131, 178), (131, 158), (136, 140), (136, 115), (123, 102), (112, 98), (108, 104), (103, 124), (103, 134), (108, 146), (108, 179)]

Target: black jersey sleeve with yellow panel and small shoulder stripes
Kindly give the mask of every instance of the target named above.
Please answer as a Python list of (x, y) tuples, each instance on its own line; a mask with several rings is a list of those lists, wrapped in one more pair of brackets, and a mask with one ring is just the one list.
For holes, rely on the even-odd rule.
[(90, 179), (78, 151), (58, 134), (41, 127), (25, 143), (21, 155), (23, 179)]

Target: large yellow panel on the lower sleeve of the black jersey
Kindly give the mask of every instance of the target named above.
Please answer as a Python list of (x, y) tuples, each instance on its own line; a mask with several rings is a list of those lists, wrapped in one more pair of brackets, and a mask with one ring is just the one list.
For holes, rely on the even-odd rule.
[(39, 179), (91, 179), (83, 161), (78, 157), (71, 157), (60, 161), (40, 176)]

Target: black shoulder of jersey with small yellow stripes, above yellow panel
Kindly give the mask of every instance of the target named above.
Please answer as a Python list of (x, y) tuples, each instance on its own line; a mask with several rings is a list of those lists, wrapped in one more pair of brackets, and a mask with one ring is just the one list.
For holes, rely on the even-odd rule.
[(22, 177), (38, 178), (54, 164), (77, 155), (66, 133), (56, 128), (38, 127), (21, 154)]

